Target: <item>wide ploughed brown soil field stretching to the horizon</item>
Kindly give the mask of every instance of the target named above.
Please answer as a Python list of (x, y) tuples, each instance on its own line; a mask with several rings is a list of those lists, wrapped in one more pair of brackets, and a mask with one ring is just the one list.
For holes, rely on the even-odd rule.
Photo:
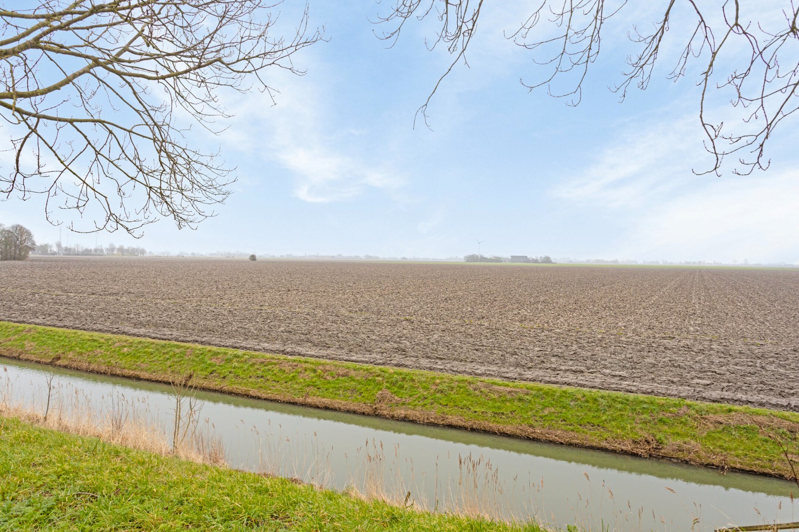
[(6, 321), (799, 412), (799, 270), (35, 258), (0, 279)]

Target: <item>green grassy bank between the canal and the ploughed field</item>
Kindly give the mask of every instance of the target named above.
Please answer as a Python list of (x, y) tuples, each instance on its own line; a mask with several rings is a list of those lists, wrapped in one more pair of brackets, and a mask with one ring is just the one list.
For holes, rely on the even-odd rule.
[[(791, 478), (799, 413), (0, 321), (0, 356)], [(792, 443), (793, 441), (793, 443)]]

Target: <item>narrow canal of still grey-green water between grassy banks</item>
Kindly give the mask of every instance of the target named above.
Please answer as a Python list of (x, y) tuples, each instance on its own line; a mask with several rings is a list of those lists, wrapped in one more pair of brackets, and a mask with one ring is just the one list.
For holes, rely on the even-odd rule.
[[(173, 441), (169, 385), (0, 359), (0, 400)], [(50, 380), (50, 383), (48, 384)], [(50, 391), (50, 392), (49, 392)], [(193, 392), (231, 467), (355, 488), (435, 511), (591, 530), (714, 530), (799, 520), (793, 483), (372, 416)], [(184, 407), (185, 408), (185, 407)]]

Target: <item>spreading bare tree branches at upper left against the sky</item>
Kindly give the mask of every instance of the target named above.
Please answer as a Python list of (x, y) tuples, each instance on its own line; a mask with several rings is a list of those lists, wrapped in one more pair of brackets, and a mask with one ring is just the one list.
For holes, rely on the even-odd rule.
[(137, 235), (159, 215), (177, 227), (213, 215), (231, 169), (191, 146), (184, 118), (219, 132), (219, 89), (272, 96), (266, 69), (301, 74), (292, 54), (320, 40), (307, 9), (294, 33), (272, 35), (276, 7), (263, 0), (18, 5), (0, 5), (0, 116), (12, 138), (0, 193), (46, 195), (51, 222), (54, 209), (75, 209), (88, 231)]

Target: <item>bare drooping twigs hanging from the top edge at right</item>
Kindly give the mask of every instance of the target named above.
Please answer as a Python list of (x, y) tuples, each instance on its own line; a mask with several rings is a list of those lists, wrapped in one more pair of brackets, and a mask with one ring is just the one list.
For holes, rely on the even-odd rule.
[[(427, 105), (444, 77), (460, 61), (477, 30), (479, 18), (487, 7), (483, 0), (395, 0), (388, 14), (377, 22), (388, 26), (379, 37), (392, 43), (400, 37), (403, 26), (412, 18), (438, 18), (439, 25), (432, 46), (443, 44), (453, 61), (439, 78), (430, 97), (419, 112), (427, 118)], [(531, 51), (535, 73), (531, 80), (523, 77), (527, 89), (546, 89), (553, 97), (567, 99), (576, 105), (582, 97), (582, 86), (590, 65), (600, 53), (602, 30), (606, 22), (637, 2), (626, 0), (541, 0), (528, 18), (518, 26), (508, 21), (511, 31), (506, 37)], [(705, 132), (705, 147), (714, 157), (708, 171), (719, 172), (725, 156), (735, 154), (737, 172), (750, 173), (765, 169), (769, 160), (765, 145), (773, 137), (782, 120), (799, 108), (799, 4), (785, 0), (776, 23), (762, 19), (765, 13), (759, 2), (745, 12), (739, 0), (698, 2), (698, 0), (660, 0), (658, 18), (641, 21), (630, 29), (630, 38), (638, 45), (638, 53), (627, 57), (628, 69), (614, 88), (623, 98), (631, 85), (646, 89), (671, 25), (679, 17), (679, 32), (684, 40), (679, 57), (672, 57), (669, 77), (686, 75), (696, 62), (702, 89), (698, 116)], [(754, 18), (752, 18), (754, 15)], [(686, 22), (689, 21), (687, 26)], [(654, 22), (654, 23), (652, 23)], [(688, 31), (682, 31), (688, 30)], [(685, 37), (682, 37), (685, 36)], [(667, 60), (669, 61), (669, 60)], [(563, 88), (565, 87), (565, 88)], [(733, 107), (742, 108), (742, 124), (734, 131), (721, 120), (708, 116), (714, 90), (729, 89)]]

